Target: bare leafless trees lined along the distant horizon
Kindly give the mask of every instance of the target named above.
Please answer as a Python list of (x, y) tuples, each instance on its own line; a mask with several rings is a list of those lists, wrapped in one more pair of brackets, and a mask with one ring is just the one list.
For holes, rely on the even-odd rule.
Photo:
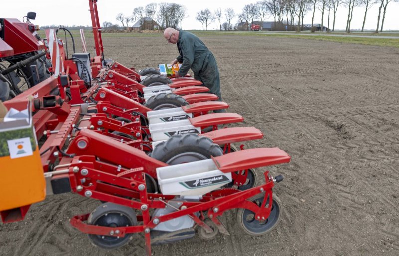
[[(353, 20), (353, 9), (355, 7), (363, 8), (363, 25), (364, 30), (367, 13), (373, 6), (378, 6), (377, 28), (376, 32), (383, 31), (384, 20), (386, 17), (387, 6), (390, 2), (399, 2), (399, 0), (262, 0), (255, 3), (246, 4), (241, 13), (235, 13), (232, 8), (217, 8), (211, 10), (209, 8), (202, 9), (197, 12), (196, 20), (202, 24), (202, 30), (207, 30), (208, 26), (217, 22), (220, 30), (237, 29), (240, 21), (253, 23), (255, 20), (264, 22), (266, 18), (272, 17), (274, 24), (284, 24), (291, 29), (302, 31), (304, 28), (304, 18), (306, 14), (312, 16), (312, 31), (315, 31), (315, 13), (320, 12), (321, 28), (327, 25), (332, 31), (335, 30), (336, 13), (338, 8), (345, 8), (347, 15), (346, 29), (348, 33), (351, 31), (351, 23)], [(173, 27), (175, 29), (182, 28), (182, 20), (187, 18), (187, 8), (176, 3), (149, 3), (144, 7), (136, 7), (130, 15), (119, 13), (116, 20), (120, 23), (121, 28), (132, 27), (137, 22), (143, 25), (144, 18), (150, 17), (152, 22), (157, 22), (160, 29)], [(238, 18), (238, 22), (233, 24), (233, 19)], [(327, 20), (327, 24), (325, 23)], [(110, 22), (103, 23), (104, 29), (118, 29), (118, 25)], [(150, 26), (150, 29), (153, 29)], [(248, 30), (250, 26), (248, 25)]]

